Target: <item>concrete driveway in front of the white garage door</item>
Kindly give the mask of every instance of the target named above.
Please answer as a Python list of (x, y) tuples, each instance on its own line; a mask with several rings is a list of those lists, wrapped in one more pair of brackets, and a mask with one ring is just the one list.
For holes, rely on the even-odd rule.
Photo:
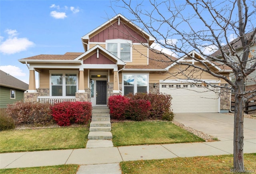
[[(217, 137), (219, 140), (234, 139), (234, 116), (222, 113), (176, 113), (174, 120)], [(244, 118), (244, 140), (256, 144), (256, 119)]]

